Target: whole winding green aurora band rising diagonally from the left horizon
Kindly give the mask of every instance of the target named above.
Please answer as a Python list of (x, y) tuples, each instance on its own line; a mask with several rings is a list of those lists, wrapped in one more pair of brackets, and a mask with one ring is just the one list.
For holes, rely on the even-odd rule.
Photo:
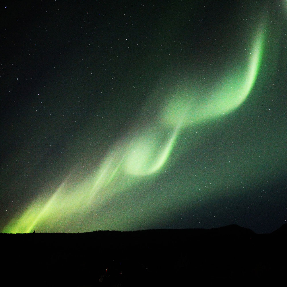
[(3, 232), (28, 233), (40, 228), (53, 231), (72, 214), (100, 206), (143, 177), (160, 172), (183, 128), (226, 115), (245, 101), (258, 75), (263, 46), (264, 29), (261, 29), (245, 67), (224, 78), (219, 87), (205, 91), (203, 100), (198, 92), (186, 89), (171, 95), (158, 116), (158, 123), (150, 123), (149, 128), (115, 145), (94, 174), (82, 182), (71, 185), (71, 178), (67, 178), (51, 198), (31, 204), (19, 218), (11, 220)]

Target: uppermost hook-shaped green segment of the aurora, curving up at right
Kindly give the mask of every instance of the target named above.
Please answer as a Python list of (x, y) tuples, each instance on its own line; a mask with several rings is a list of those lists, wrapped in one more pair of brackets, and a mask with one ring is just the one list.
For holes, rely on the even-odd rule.
[(255, 38), (249, 62), (228, 71), (220, 85), (212, 91), (179, 90), (162, 112), (168, 125), (192, 125), (230, 113), (249, 95), (256, 81), (263, 53), (264, 31)]

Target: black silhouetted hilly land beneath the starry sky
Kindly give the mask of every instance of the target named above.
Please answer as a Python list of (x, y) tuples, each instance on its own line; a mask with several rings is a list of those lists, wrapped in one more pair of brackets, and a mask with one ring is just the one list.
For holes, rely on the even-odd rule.
[[(286, 276), (286, 225), (216, 229), (0, 234), (10, 286), (191, 286)], [(12, 273), (12, 276), (9, 275)]]

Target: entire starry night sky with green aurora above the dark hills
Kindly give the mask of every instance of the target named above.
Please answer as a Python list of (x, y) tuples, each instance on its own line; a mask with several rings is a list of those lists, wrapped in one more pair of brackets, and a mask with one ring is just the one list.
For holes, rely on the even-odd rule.
[(2, 232), (286, 223), (287, 1), (0, 10)]

